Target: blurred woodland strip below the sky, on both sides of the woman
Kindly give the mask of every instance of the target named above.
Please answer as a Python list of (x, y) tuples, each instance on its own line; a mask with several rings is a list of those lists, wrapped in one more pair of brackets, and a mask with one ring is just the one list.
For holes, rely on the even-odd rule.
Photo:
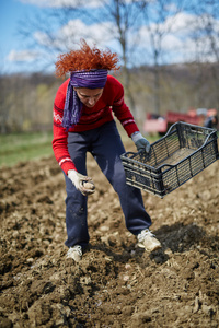
[[(154, 67), (129, 70), (132, 102), (127, 96), (124, 68), (116, 78), (125, 85), (125, 99), (139, 127), (147, 113), (154, 112)], [(160, 66), (160, 114), (185, 113), (193, 108), (219, 108), (217, 63)], [(53, 129), (53, 105), (62, 79), (55, 74), (33, 73), (0, 75), (0, 133)]]

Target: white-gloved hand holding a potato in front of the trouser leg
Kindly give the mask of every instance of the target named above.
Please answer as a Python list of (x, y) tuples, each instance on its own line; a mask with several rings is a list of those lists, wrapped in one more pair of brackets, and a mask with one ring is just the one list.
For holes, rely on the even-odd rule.
[(68, 171), (68, 177), (83, 196), (95, 192), (95, 186), (92, 178), (84, 176), (74, 169)]

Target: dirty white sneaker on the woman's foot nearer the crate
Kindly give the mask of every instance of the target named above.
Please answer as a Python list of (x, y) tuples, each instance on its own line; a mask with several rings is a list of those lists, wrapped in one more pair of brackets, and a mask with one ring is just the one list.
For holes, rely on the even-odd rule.
[(154, 237), (149, 229), (142, 230), (141, 233), (137, 235), (137, 246), (149, 251), (153, 251), (162, 247), (161, 243)]

